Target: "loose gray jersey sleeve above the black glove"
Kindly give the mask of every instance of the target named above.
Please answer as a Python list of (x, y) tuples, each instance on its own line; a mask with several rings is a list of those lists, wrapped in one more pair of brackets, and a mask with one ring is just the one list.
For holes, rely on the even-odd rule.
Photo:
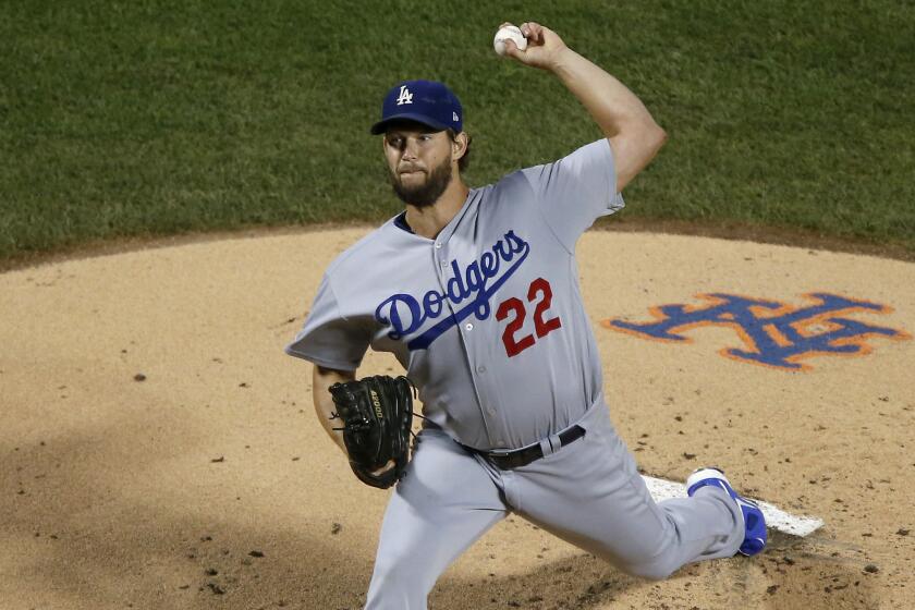
[(340, 312), (337, 295), (325, 274), (302, 330), (285, 353), (337, 370), (355, 370), (369, 345), (369, 334)]

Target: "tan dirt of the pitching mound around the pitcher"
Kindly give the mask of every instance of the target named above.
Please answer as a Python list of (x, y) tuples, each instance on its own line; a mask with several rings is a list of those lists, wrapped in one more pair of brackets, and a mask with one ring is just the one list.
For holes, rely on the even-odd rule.
[[(327, 264), (367, 231), (0, 274), (0, 608), (361, 607), (390, 492), (355, 479), (315, 418), (310, 365), (282, 349)], [(430, 608), (911, 608), (915, 264), (619, 232), (585, 234), (578, 261), (611, 417), (644, 472), (682, 480), (720, 465), (826, 525), (651, 583), (510, 517)], [(779, 302), (805, 339), (846, 334), (805, 352), (764, 319), (773, 309), (698, 320), (699, 293)], [(883, 307), (804, 318), (810, 293)], [(649, 322), (664, 304), (684, 305), (670, 332), (692, 341), (607, 322)], [(752, 362), (757, 331), (785, 366)], [(843, 345), (862, 349), (828, 353)], [(399, 370), (370, 354), (359, 375)]]

